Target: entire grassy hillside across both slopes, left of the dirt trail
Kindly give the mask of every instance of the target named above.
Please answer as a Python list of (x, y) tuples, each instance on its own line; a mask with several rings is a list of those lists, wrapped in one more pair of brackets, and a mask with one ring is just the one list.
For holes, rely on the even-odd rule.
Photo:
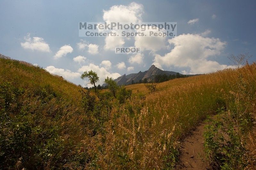
[[(173, 168), (180, 142), (219, 107), (232, 110), (241, 84), (249, 96), (245, 112), (254, 121), (255, 63), (159, 83), (155, 93), (144, 84), (128, 85), (132, 96), (120, 104), (108, 91), (96, 97), (42, 68), (2, 57), (0, 168)], [(252, 142), (247, 148), (250, 154), (255, 149)], [(244, 161), (252, 164), (255, 156)]]

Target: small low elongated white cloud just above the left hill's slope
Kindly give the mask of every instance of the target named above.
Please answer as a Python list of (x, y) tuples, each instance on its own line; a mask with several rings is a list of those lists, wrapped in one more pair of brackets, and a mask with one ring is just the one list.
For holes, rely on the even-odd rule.
[(62, 68), (55, 68), (54, 66), (48, 66), (46, 67), (46, 70), (49, 73), (60, 75), (67, 80), (72, 80), (74, 78), (80, 77), (80, 73), (71, 72), (70, 70), (64, 70)]

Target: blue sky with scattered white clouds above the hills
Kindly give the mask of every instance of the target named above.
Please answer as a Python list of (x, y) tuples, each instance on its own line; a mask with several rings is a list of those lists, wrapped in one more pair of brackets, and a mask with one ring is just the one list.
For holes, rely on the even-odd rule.
[[(255, 8), (255, 1), (2, 0), (0, 53), (82, 85), (79, 75), (89, 69), (99, 74), (100, 84), (105, 76), (145, 71), (153, 63), (180, 73), (209, 73), (229, 67), (231, 54), (250, 52), (255, 61)], [(143, 22), (177, 22), (178, 36), (123, 39), (121, 46), (144, 47), (138, 56), (115, 54), (103, 37), (78, 36), (78, 22), (122, 21), (132, 17), (127, 12)]]

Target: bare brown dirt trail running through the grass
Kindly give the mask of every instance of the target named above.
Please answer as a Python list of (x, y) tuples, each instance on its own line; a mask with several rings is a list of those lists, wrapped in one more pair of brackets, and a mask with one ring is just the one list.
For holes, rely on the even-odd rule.
[(203, 132), (206, 124), (202, 122), (183, 142), (181, 164), (177, 169), (211, 169), (203, 151)]

